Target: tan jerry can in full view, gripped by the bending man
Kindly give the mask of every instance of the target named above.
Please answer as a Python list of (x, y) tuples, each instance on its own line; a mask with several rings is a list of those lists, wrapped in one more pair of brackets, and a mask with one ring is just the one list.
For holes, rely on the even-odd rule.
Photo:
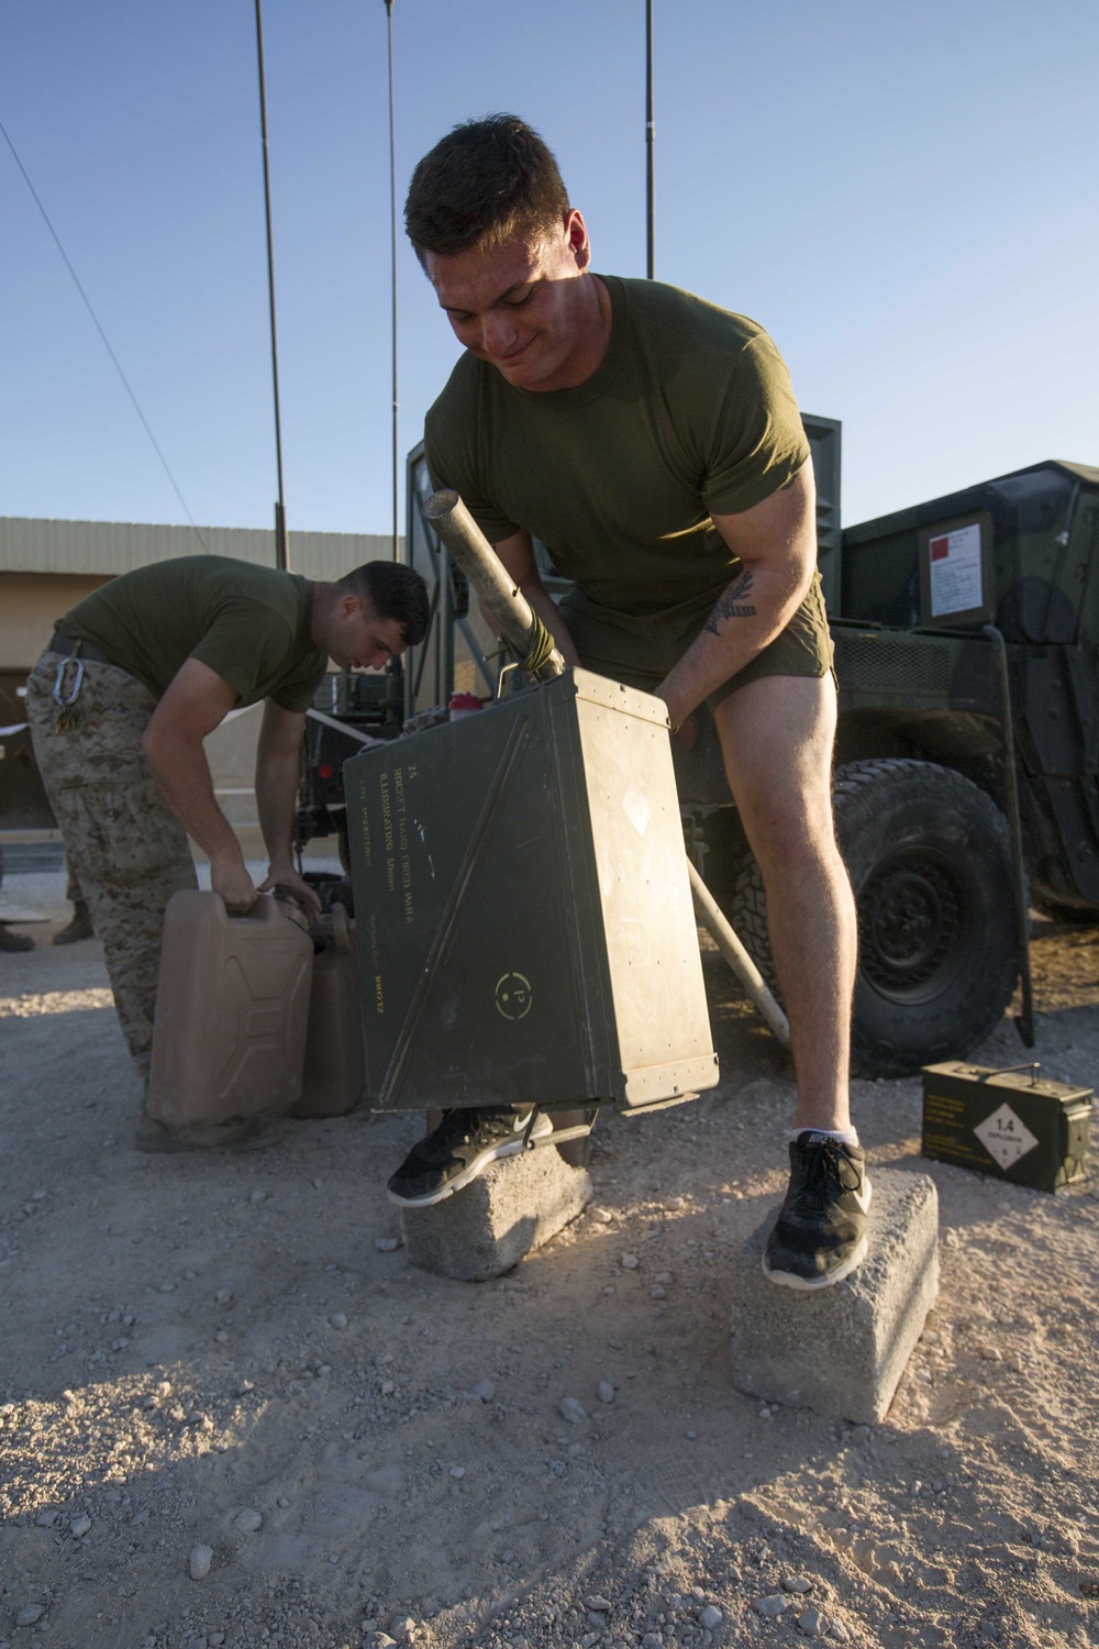
[(145, 1108), (170, 1128), (288, 1111), (302, 1097), (313, 940), (260, 894), (244, 917), (185, 889), (165, 912)]

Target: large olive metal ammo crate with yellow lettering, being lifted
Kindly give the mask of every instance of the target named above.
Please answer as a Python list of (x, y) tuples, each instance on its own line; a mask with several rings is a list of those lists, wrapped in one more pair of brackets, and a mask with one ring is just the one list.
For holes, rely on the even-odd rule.
[(376, 1110), (717, 1082), (659, 699), (568, 669), (344, 783)]

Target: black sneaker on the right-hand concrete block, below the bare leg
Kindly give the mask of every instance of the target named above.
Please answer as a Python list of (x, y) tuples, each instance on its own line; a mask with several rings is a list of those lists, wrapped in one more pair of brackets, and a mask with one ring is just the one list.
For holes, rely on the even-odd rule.
[(786, 1288), (830, 1288), (867, 1253), (870, 1179), (857, 1144), (806, 1130), (789, 1146), (789, 1189), (763, 1253)]

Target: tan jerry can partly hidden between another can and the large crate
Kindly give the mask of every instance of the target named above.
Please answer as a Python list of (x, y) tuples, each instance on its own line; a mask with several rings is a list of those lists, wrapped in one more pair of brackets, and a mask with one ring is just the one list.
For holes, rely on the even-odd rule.
[(343, 905), (333, 905), (311, 933), (325, 945), (313, 956), (305, 1075), (293, 1115), (343, 1116), (359, 1103), (366, 1085), (354, 922), (348, 922)]

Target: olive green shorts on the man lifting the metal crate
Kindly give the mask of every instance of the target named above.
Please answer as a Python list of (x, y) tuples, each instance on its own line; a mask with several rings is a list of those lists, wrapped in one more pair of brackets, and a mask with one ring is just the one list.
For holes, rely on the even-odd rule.
[[(562, 618), (585, 669), (623, 681), (629, 688), (651, 693), (679, 663), (700, 635), (717, 604), (717, 594), (684, 602), (662, 612), (620, 613), (600, 607), (573, 585), (560, 604)], [(758, 653), (750, 665), (723, 681), (710, 698), (710, 709), (738, 688), (763, 676), (827, 676), (832, 669), (832, 635), (824, 612), (821, 574), (814, 574), (809, 594), (786, 628)]]

